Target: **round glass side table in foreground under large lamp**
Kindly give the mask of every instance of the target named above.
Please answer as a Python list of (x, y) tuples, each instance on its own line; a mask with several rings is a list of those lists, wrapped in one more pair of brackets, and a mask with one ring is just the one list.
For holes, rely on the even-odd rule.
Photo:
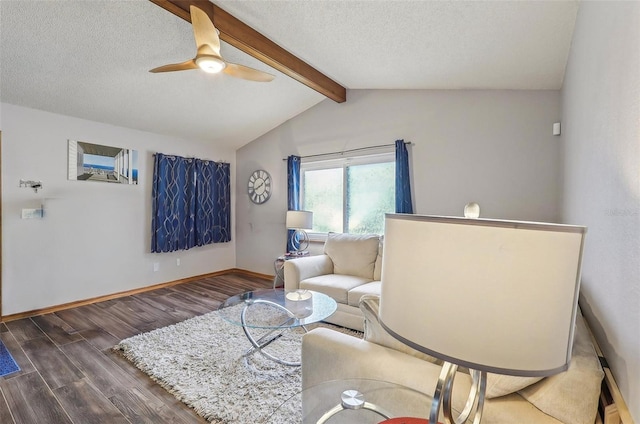
[(273, 412), (269, 424), (370, 424), (411, 417), (428, 422), (432, 397), (399, 384), (369, 379), (332, 380), (302, 390)]

